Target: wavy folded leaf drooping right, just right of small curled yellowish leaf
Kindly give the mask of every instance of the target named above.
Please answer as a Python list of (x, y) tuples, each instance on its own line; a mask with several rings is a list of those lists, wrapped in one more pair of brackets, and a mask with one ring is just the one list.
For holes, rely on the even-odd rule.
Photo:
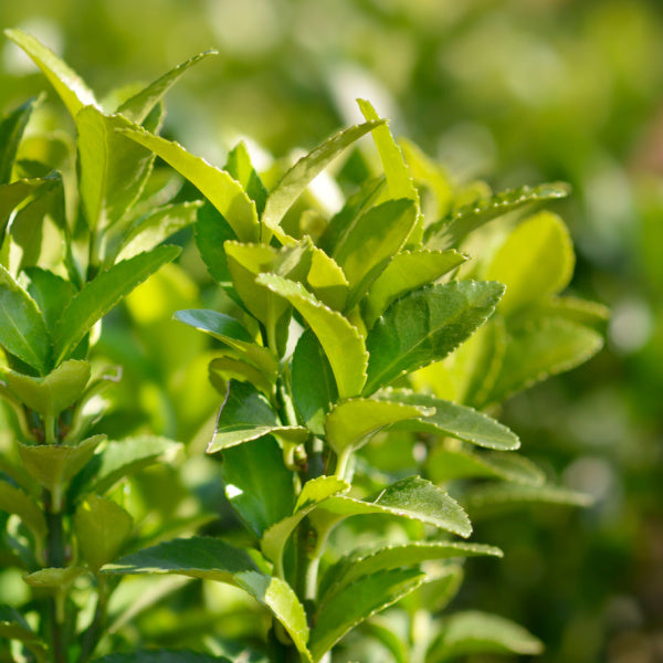
[(469, 537), (472, 525), (463, 508), (442, 488), (419, 476), (401, 478), (366, 499), (334, 496), (311, 517), (329, 525), (349, 516), (385, 514), (433, 525), (445, 532)]

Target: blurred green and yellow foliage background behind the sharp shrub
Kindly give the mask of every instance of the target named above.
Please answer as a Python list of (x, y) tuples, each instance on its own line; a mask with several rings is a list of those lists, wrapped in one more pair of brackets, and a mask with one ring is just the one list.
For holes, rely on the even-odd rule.
[[(362, 96), (454, 180), (570, 182), (555, 209), (576, 242), (572, 288), (612, 309), (606, 349), (512, 399), (504, 420), (596, 505), (477, 523), (505, 559), (473, 562), (455, 604), (526, 625), (541, 663), (663, 661), (661, 0), (6, 0), (0, 27), (38, 36), (99, 97), (218, 49), (169, 93), (164, 130), (217, 164), (240, 137), (263, 167), (311, 149), (358, 119)], [(0, 112), (42, 90), (2, 40)], [(190, 305), (198, 285), (169, 277), (150, 301), (161, 287)], [(181, 334), (186, 365), (199, 347)], [(217, 397), (188, 399), (177, 422), (151, 408), (157, 432), (194, 436)]]

